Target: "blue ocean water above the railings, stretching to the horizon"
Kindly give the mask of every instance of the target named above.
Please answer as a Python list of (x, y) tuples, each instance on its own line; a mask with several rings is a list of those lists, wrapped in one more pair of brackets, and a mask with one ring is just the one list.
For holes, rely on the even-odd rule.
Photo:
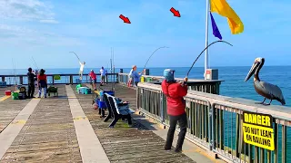
[[(184, 78), (188, 67), (166, 67), (176, 70), (175, 76), (177, 78)], [(148, 68), (150, 75), (162, 76), (163, 71), (166, 68)], [(99, 72), (99, 68), (87, 68), (84, 73), (90, 72), (93, 69), (95, 72)], [(240, 67), (213, 67), (218, 69), (219, 80), (224, 80), (220, 85), (220, 94), (230, 97), (245, 98), (254, 101), (263, 101), (264, 98), (258, 95), (253, 86), (253, 78), (244, 82), (246, 74), (250, 69), (250, 66)], [(119, 68), (115, 68), (115, 72), (119, 72)], [(130, 68), (123, 68), (124, 73), (130, 72)], [(45, 69), (46, 74), (64, 74), (64, 73), (78, 73), (79, 69)], [(142, 69), (137, 68), (137, 72), (141, 72)], [(108, 70), (110, 72), (110, 70)], [(259, 74), (261, 81), (276, 84), (283, 91), (286, 99), (286, 106), (291, 106), (291, 66), (264, 66)], [(26, 70), (11, 70), (0, 69), (0, 74), (25, 74)], [(204, 68), (194, 67), (189, 74), (188, 78), (191, 79), (203, 79)], [(268, 101), (266, 101), (268, 102)], [(272, 104), (280, 105), (277, 101), (272, 101)]]

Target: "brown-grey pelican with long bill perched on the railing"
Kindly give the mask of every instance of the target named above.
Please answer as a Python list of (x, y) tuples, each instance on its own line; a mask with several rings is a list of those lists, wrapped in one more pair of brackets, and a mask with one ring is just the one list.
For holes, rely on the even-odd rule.
[[(258, 73), (263, 67), (264, 62), (265, 62), (264, 58), (256, 58), (255, 62), (253, 63), (252, 68), (246, 75), (245, 82), (248, 81), (249, 78), (255, 73), (255, 76), (254, 76), (255, 90), (258, 94), (260, 94), (261, 96), (265, 98), (264, 101), (259, 102), (259, 104), (270, 105), (273, 100), (276, 100), (276, 101), (281, 102), (282, 105), (285, 105), (286, 101), (283, 97), (283, 93), (281, 89), (278, 86), (273, 85), (271, 83), (261, 82), (260, 78), (258, 77)], [(264, 103), (266, 99), (270, 100), (270, 102), (267, 104)]]

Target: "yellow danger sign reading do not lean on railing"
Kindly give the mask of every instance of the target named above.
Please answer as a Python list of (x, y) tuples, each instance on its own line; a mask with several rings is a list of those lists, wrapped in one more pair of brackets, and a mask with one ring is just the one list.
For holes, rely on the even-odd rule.
[(274, 150), (274, 129), (272, 116), (244, 111), (244, 141), (254, 146)]

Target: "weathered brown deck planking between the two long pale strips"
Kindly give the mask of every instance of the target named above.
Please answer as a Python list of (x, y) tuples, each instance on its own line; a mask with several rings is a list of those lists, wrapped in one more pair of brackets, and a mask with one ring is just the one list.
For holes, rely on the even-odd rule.
[(38, 103), (0, 162), (82, 162), (65, 86), (58, 87), (61, 97)]

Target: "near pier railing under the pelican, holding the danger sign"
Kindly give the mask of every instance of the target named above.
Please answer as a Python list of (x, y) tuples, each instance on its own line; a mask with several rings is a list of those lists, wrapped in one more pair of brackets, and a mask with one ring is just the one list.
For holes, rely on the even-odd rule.
[[(166, 126), (169, 125), (166, 97), (160, 85), (140, 82), (136, 95), (136, 106), (141, 113)], [(263, 106), (255, 104), (255, 101), (201, 91), (188, 91), (185, 100), (188, 118), (186, 138), (206, 149), (208, 153), (226, 162), (291, 162), (291, 155), (287, 155), (291, 146), (291, 141), (287, 140), (291, 139), (291, 108)], [(273, 135), (269, 135), (269, 139), (275, 141), (274, 150), (263, 149), (244, 141), (243, 132), (246, 130), (243, 127), (243, 113), (245, 111), (272, 116)], [(176, 130), (179, 131), (178, 128)], [(264, 137), (266, 133), (263, 132), (265, 133), (262, 130), (257, 134)]]

